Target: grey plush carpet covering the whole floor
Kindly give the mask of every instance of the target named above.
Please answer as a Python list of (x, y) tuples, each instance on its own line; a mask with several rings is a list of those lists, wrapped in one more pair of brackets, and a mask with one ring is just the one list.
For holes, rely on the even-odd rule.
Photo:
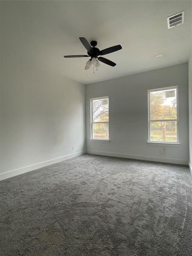
[(0, 182), (1, 256), (191, 256), (187, 166), (85, 154)]

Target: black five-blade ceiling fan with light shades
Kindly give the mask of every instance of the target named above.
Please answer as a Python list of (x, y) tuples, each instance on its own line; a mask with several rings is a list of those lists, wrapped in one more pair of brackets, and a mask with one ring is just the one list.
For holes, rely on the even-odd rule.
[(90, 57), (90, 60), (87, 61), (86, 66), (84, 68), (85, 70), (88, 70), (92, 64), (95, 65), (96, 67), (99, 67), (100, 66), (99, 61), (102, 61), (103, 63), (112, 67), (116, 65), (116, 63), (114, 63), (113, 61), (110, 61), (106, 58), (99, 57), (99, 56), (105, 55), (111, 52), (116, 52), (122, 49), (120, 44), (100, 51), (98, 48), (96, 48), (97, 41), (91, 41), (89, 44), (86, 38), (79, 38), (79, 39), (81, 43), (84, 45), (84, 47), (87, 49), (87, 55), (64, 55), (64, 58)]

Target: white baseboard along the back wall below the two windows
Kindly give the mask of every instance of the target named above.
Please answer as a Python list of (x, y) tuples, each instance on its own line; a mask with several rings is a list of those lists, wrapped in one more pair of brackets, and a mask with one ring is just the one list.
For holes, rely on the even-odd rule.
[(87, 154), (98, 154), (98, 155), (109, 156), (109, 157), (124, 157), (124, 158), (137, 159), (137, 160), (147, 160), (147, 161), (161, 162), (161, 163), (176, 163), (176, 164), (188, 165), (188, 160), (176, 159), (176, 158), (150, 157), (150, 156), (122, 154), (122, 153), (95, 151), (95, 150), (88, 150)]

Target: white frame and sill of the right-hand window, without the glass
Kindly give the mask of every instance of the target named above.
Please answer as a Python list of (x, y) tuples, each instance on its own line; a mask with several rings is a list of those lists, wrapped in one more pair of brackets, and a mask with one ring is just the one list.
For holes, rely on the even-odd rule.
[[(177, 94), (177, 119), (150, 119), (150, 93), (151, 92), (157, 92), (157, 91), (161, 91), (161, 90), (172, 90), (172, 89), (176, 89), (176, 94)], [(176, 142), (168, 142), (168, 141), (152, 141), (151, 140), (151, 126), (150, 126), (150, 122), (162, 122), (162, 121), (175, 121), (177, 122), (177, 141)], [(162, 87), (162, 88), (157, 88), (157, 89), (151, 89), (148, 90), (148, 143), (160, 143), (160, 144), (177, 144), (179, 145), (179, 108), (178, 108), (178, 86), (170, 86), (170, 87)]]

